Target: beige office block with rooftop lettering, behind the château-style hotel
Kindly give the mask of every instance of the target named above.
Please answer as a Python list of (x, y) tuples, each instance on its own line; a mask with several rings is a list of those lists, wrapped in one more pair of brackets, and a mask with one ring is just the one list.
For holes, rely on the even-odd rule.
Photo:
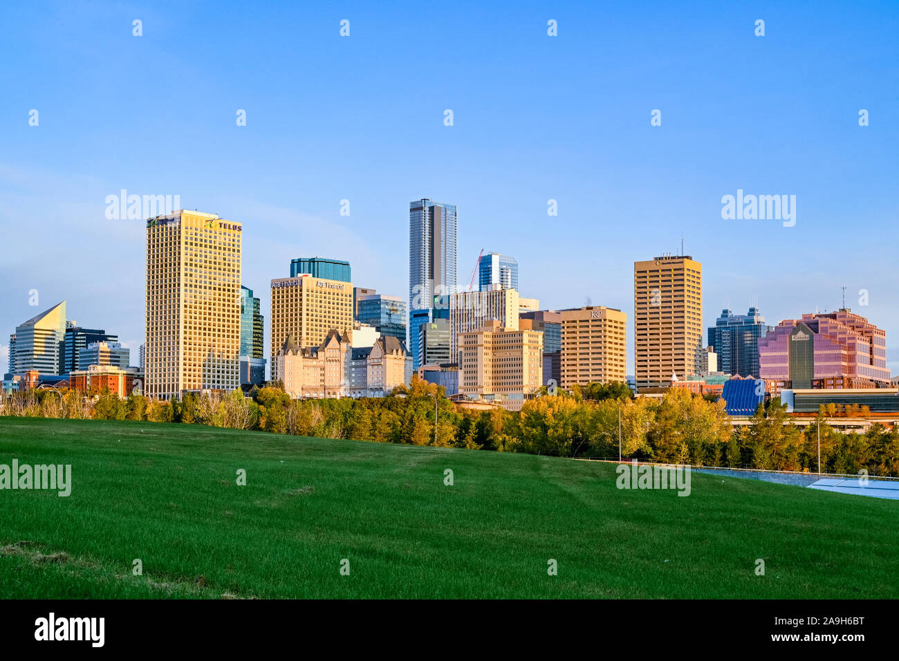
[(271, 281), (271, 378), (278, 375), (278, 352), (292, 335), (302, 348), (319, 346), (328, 331), (352, 332), (352, 282), (302, 274)]

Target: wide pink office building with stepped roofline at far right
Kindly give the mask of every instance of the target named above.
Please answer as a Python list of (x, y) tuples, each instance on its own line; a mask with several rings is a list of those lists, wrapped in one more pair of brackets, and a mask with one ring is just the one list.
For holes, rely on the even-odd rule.
[(847, 308), (785, 319), (759, 338), (759, 377), (780, 388), (888, 388), (886, 332)]

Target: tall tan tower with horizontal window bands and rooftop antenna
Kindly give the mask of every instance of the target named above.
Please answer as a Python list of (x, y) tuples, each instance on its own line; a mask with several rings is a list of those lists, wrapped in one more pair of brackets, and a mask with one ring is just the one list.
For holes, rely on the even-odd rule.
[(702, 264), (687, 255), (634, 263), (637, 389), (663, 388), (700, 369)]

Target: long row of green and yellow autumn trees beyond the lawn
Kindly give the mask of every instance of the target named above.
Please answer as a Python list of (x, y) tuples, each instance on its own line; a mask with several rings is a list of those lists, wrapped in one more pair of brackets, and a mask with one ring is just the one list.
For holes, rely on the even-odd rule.
[[(108, 391), (17, 393), (4, 415), (147, 420), (208, 424), (269, 433), (437, 445), (557, 457), (622, 458), (732, 468), (818, 469), (817, 433), (825, 472), (899, 476), (899, 431), (873, 425), (868, 433), (841, 433), (824, 422), (803, 430), (777, 399), (751, 424), (732, 428), (723, 401), (710, 402), (683, 389), (663, 399), (630, 397), (624, 384), (591, 384), (573, 394), (542, 395), (521, 412), (472, 411), (443, 397), (443, 389), (415, 378), (389, 397), (291, 399), (279, 384), (229, 395), (188, 394), (181, 401), (151, 401)], [(627, 392), (625, 392), (627, 389)], [(560, 391), (561, 392), (561, 391)], [(436, 410), (435, 410), (436, 406)], [(435, 428), (436, 413), (436, 428)]]

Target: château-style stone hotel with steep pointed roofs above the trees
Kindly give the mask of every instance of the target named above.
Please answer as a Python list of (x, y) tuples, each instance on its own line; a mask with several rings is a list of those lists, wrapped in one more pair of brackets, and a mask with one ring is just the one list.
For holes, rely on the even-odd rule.
[(384, 397), (406, 382), (405, 344), (392, 335), (357, 348), (334, 329), (313, 347), (289, 335), (274, 364), (293, 398)]

